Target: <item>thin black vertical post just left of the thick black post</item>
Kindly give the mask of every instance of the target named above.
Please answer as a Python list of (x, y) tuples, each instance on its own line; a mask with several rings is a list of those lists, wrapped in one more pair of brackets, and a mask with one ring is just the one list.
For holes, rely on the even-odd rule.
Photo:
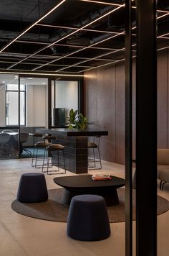
[(132, 18), (125, 1), (125, 255), (132, 256)]

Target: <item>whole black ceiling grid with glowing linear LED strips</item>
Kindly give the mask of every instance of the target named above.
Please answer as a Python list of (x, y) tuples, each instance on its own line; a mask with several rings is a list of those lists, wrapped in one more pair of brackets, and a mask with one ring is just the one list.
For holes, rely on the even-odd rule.
[[(82, 26), (80, 27), (76, 27), (76, 26), (72, 26), (71, 23), (69, 26), (67, 25), (59, 25), (59, 24), (42, 24), (40, 22), (43, 21), (44, 18), (47, 18), (48, 16), (51, 17), (51, 15), (54, 13), (55, 10), (61, 8), (62, 6), (64, 6), (64, 4), (66, 2), (68, 2), (67, 0), (64, 1), (59, 1), (59, 4), (57, 4), (56, 6), (54, 6), (54, 8), (52, 8), (49, 12), (47, 12), (47, 14), (45, 14), (43, 17), (41, 17), (40, 19), (37, 20), (37, 22), (34, 22), (33, 24), (31, 24), (31, 26), (27, 27), (26, 29), (23, 30), (23, 32), (21, 32), (19, 34), (18, 37), (15, 37), (14, 40), (11, 40), (11, 42), (9, 42), (9, 44), (5, 45), (4, 47), (1, 48), (0, 50), (0, 55), (3, 55), (3, 53), (7, 54), (7, 51), (5, 51), (9, 46), (14, 45), (14, 43), (21, 43), (21, 44), (29, 44), (29, 45), (39, 45), (42, 46), (42, 48), (40, 48), (39, 50), (33, 52), (32, 54), (26, 54), (23, 53), (23, 55), (25, 55), (23, 57), (23, 55), (20, 55), (20, 60), (19, 58), (17, 58), (16, 61), (6, 61), (4, 60), (4, 63), (9, 63), (10, 65), (7, 67), (8, 70), (16, 70), (16, 68), (14, 68), (16, 65), (19, 64), (23, 64), (23, 66), (29, 66), (29, 65), (34, 65), (34, 68), (31, 68), (32, 71), (35, 70), (40, 70), (40, 69), (44, 69), (44, 72), (49, 72), (51, 66), (52, 67), (59, 67), (57, 70), (55, 70), (56, 72), (65, 72), (65, 70), (71, 70), (71, 68), (82, 68), (80, 71), (78, 71), (79, 73), (84, 72), (85, 70), (89, 70), (89, 69), (93, 69), (93, 68), (97, 68), (97, 67), (101, 67), (101, 66), (105, 66), (105, 65), (110, 65), (108, 62), (110, 63), (117, 63), (123, 60), (122, 55), (124, 56), (124, 52), (125, 52), (125, 48), (124, 47), (120, 47), (119, 49), (117, 49), (117, 47), (115, 47), (115, 43), (116, 42), (122, 42), (122, 44), (124, 45), (124, 39), (125, 38), (120, 38), (120, 37), (124, 37), (125, 36), (125, 32), (124, 30), (122, 32), (117, 32), (117, 31), (113, 31), (111, 29), (102, 29), (101, 27), (94, 27), (94, 28), (90, 28), (90, 26), (93, 26), (93, 24), (100, 24), (100, 22), (104, 19), (107, 19), (107, 17), (114, 17), (114, 15), (112, 15), (113, 13), (116, 14), (116, 11), (120, 10), (123, 12), (125, 4), (115, 4), (112, 3), (112, 1), (95, 1), (95, 0), (78, 0), (79, 2), (84, 2), (86, 4), (95, 4), (96, 6), (99, 5), (103, 5), (103, 6), (112, 6), (112, 9), (108, 10), (105, 13), (100, 14), (98, 17), (96, 17), (95, 19), (92, 19), (90, 22), (86, 22), (84, 23)], [(105, 8), (105, 7), (104, 7)], [(135, 6), (132, 6), (133, 9), (135, 9)], [(111, 14), (111, 15), (110, 15)], [(160, 20), (167, 20), (168, 19), (168, 15), (169, 12), (162, 10), (162, 9), (158, 9), (158, 21)], [(109, 18), (107, 19), (107, 22), (109, 21)], [(134, 24), (134, 23), (133, 23)], [(114, 25), (114, 24), (112, 24)], [(69, 31), (69, 33), (67, 35), (61, 36), (59, 38), (59, 40), (55, 40), (54, 42), (37, 42), (37, 41), (32, 41), (32, 39), (30, 38), (29, 40), (21, 40), (21, 36), (23, 36), (25, 33), (27, 33), (30, 29), (35, 27), (39, 27), (39, 29), (43, 29), (45, 27), (50, 27), (52, 29), (67, 29), (67, 30), (71, 30)], [(113, 26), (112, 26), (113, 27)], [(133, 29), (135, 29), (136, 27), (132, 27), (132, 31)], [(119, 31), (122, 28), (119, 28)], [(124, 27), (123, 27), (124, 29)], [(98, 35), (98, 39), (99, 37), (101, 37), (101, 39), (96, 41), (93, 41), (93, 43), (91, 43), (90, 45), (74, 45), (71, 44), (69, 42), (66, 42), (67, 39), (69, 39), (70, 37), (74, 37), (74, 36), (78, 36), (79, 32), (84, 32), (84, 33), (97, 33)], [(135, 34), (132, 34), (133, 36), (135, 36)], [(157, 38), (162, 40), (166, 40), (168, 41), (169, 37), (168, 37), (169, 33), (165, 34), (163, 33), (162, 35), (159, 35)], [(104, 39), (102, 39), (105, 36)], [(83, 37), (82, 37), (83, 38)], [(112, 40), (112, 47), (110, 47), (110, 41)], [(159, 40), (160, 41), (160, 40)], [(160, 41), (160, 42), (161, 42)], [(75, 42), (75, 41), (74, 41)], [(91, 40), (92, 42), (92, 40)], [(134, 40), (133, 40), (134, 42)], [(163, 44), (164, 45), (164, 44)], [(60, 55), (52, 55), (49, 50), (50, 47), (52, 46), (56, 46), (56, 47), (67, 47), (67, 51), (64, 52), (64, 54), (60, 54)], [(158, 50), (164, 50), (167, 49), (168, 46), (165, 45), (163, 47), (160, 47)], [(74, 50), (73, 50), (74, 49)], [(90, 51), (89, 50), (95, 50), (95, 52), (93, 52), (93, 55), (95, 55), (95, 53), (97, 53), (97, 50), (101, 50), (101, 54), (100, 55), (95, 55), (95, 57), (90, 57)], [(11, 48), (9, 49), (9, 51), (11, 50)], [(69, 52), (69, 50), (72, 50), (71, 52)], [(88, 51), (87, 51), (88, 50)], [(105, 51), (105, 52), (104, 52)], [(85, 54), (88, 54), (87, 57), (83, 57), (85, 56)], [(120, 58), (120, 60), (115, 60), (115, 59), (111, 59), (111, 58), (106, 58), (106, 56), (108, 55), (112, 55), (113, 54), (116, 56), (116, 54), (120, 52), (119, 57), (117, 56), (116, 58)], [(133, 52), (135, 52), (135, 50), (133, 49)], [(12, 53), (12, 52), (11, 52)], [(19, 55), (19, 52), (13, 52), (16, 55)], [(82, 57), (80, 57), (80, 55), (82, 55)], [(3, 57), (3, 56), (2, 56)], [(39, 65), (38, 61), (36, 61), (36, 58), (42, 58), (42, 64)], [(80, 59), (81, 58), (81, 59)], [(30, 60), (29, 60), (30, 59)], [(69, 62), (69, 65), (67, 65), (67, 59), (72, 60), (72, 62)], [(74, 63), (74, 59), (77, 60), (76, 63)], [(62, 60), (62, 61), (61, 61)], [(65, 60), (65, 63), (64, 63)], [(102, 65), (96, 65), (96, 61), (97, 63), (99, 62), (99, 60), (106, 62), (103, 63)], [(1, 63), (2, 63), (3, 59), (1, 58)], [(40, 61), (40, 60), (39, 60)], [(59, 63), (60, 62), (60, 63)], [(91, 67), (90, 65), (85, 65), (84, 63), (87, 62), (91, 62)], [(84, 64), (84, 65), (83, 65)], [(20, 65), (21, 66), (21, 65)], [(23, 67), (24, 68), (24, 67)], [(30, 70), (30, 68), (29, 68)]]

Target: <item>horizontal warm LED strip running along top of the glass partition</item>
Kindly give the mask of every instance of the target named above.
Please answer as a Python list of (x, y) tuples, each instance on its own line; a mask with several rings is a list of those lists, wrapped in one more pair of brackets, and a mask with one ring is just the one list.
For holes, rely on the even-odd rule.
[(0, 71), (0, 74), (14, 74), (14, 75), (34, 75), (34, 76), (73, 76), (73, 77), (83, 77), (83, 75), (69, 75), (69, 74), (56, 74), (56, 73), (30, 73), (30, 72), (9, 72), (9, 71)]

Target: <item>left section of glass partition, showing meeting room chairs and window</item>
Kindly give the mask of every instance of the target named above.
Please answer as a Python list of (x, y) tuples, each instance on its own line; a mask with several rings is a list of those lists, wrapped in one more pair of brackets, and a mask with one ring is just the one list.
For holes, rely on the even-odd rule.
[(0, 159), (32, 157), (33, 134), (48, 124), (48, 79), (0, 76), (0, 99)]

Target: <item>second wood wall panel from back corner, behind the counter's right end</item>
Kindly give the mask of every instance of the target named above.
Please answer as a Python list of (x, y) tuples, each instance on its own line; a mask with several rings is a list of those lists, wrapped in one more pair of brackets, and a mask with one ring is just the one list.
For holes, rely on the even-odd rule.
[[(115, 68), (97, 73), (97, 126), (108, 129), (100, 140), (102, 159), (115, 161)], [(110, 129), (111, 127), (111, 129)]]

